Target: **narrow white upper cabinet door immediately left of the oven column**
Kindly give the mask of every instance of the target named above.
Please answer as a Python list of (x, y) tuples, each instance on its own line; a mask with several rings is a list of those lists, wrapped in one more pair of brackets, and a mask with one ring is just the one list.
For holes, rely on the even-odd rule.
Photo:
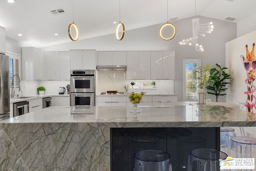
[(69, 52), (60, 52), (60, 80), (70, 80)]

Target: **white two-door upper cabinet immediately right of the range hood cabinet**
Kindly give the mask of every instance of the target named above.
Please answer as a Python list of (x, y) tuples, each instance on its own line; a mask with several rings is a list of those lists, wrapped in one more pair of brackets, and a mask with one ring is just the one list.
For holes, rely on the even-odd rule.
[(127, 80), (150, 80), (150, 51), (127, 52)]

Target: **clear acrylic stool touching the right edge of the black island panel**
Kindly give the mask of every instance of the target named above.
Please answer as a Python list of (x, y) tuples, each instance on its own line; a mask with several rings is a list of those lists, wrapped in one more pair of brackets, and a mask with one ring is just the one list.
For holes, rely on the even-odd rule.
[(220, 151), (230, 156), (229, 142), (230, 138), (235, 137), (235, 130), (228, 127), (220, 127)]

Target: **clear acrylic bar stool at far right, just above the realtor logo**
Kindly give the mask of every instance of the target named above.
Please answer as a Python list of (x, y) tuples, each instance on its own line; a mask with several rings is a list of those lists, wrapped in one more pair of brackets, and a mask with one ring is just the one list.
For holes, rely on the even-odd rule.
[[(255, 158), (256, 157), (256, 139), (255, 138), (232, 137), (230, 139), (229, 147), (230, 147), (230, 151), (232, 150), (235, 152), (234, 158)], [(242, 169), (242, 171), (252, 171), (252, 170)]]

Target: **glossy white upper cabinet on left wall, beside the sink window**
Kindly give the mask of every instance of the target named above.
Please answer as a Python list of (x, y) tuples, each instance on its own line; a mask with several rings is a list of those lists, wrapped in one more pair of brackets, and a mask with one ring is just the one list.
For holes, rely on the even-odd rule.
[(44, 80), (44, 52), (22, 47), (22, 80)]

